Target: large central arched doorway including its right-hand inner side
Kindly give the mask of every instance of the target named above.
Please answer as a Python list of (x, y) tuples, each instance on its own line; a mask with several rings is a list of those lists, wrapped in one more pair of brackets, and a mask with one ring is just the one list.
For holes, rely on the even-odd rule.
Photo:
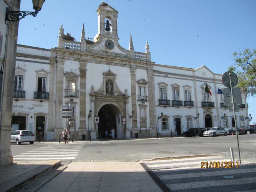
[[(98, 136), (101, 134), (101, 138), (111, 138), (110, 133), (112, 128), (114, 128), (114, 138), (122, 138), (122, 120), (119, 109), (116, 106), (112, 104), (102, 106), (98, 112), (98, 116), (100, 118)], [(106, 130), (108, 131), (107, 137), (105, 135)]]

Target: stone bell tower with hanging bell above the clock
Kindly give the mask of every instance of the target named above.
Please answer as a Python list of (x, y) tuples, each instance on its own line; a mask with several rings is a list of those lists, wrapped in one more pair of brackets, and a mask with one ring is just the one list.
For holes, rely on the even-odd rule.
[(118, 11), (102, 2), (98, 9), (98, 34), (96, 40), (100, 37), (119, 39), (117, 36), (117, 14)]

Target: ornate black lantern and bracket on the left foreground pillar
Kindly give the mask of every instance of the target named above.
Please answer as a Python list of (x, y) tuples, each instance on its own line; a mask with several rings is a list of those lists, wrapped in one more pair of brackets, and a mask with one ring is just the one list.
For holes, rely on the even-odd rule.
[(32, 0), (34, 12), (28, 11), (10, 11), (6, 8), (5, 21), (18, 21), (27, 15), (32, 15), (36, 17), (38, 12), (42, 9), (45, 0)]

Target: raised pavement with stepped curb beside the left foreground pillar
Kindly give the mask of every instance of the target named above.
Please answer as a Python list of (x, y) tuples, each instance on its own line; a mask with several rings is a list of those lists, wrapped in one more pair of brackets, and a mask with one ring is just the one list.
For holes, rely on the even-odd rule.
[(42, 172), (60, 165), (61, 160), (18, 162), (0, 167), (0, 192), (13, 190), (39, 176)]

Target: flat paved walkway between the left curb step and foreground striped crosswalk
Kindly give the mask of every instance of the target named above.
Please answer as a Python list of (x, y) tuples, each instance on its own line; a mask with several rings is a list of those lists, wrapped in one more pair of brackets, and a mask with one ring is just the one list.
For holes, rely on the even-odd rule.
[(161, 192), (139, 162), (72, 162), (38, 192)]

